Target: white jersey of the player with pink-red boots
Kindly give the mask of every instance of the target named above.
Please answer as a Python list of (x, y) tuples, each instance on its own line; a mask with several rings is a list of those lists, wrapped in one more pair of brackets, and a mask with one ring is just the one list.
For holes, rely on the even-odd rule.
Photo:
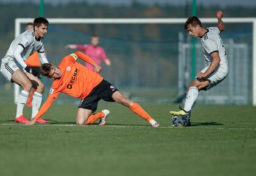
[(29, 58), (29, 56), (36, 51), (39, 53), (44, 52), (43, 38), (36, 39), (34, 29), (29, 29), (21, 33), (19, 36), (17, 36), (17, 38), (13, 40), (6, 55), (4, 58), (2, 58), (2, 61), (5, 61), (5, 59), (9, 59), (10, 61), (10, 58), (14, 59), (15, 57), (13, 54), (18, 45), (24, 49), (23, 52), (21, 52), (21, 57), (24, 61), (26, 61), (27, 58)]

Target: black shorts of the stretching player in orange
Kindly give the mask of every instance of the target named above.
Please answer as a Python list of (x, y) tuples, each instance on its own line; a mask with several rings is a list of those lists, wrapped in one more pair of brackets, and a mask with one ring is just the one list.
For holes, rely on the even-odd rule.
[(104, 101), (113, 102), (112, 95), (116, 91), (118, 91), (118, 89), (116, 89), (115, 86), (108, 83), (108, 81), (102, 80), (101, 83), (94, 87), (91, 93), (81, 101), (79, 108), (90, 109), (92, 113), (94, 113), (97, 110), (99, 100), (102, 99)]

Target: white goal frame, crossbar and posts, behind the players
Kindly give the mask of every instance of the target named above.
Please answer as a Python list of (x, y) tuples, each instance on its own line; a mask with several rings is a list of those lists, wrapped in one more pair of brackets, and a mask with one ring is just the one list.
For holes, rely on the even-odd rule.
[[(50, 24), (184, 24), (187, 18), (48, 18)], [(216, 18), (200, 18), (202, 23), (216, 23)], [(256, 106), (256, 18), (223, 18), (224, 23), (252, 23), (252, 104)], [(15, 38), (21, 33), (21, 24), (34, 18), (15, 19)], [(181, 29), (182, 30), (182, 29)], [(18, 101), (20, 87), (15, 84), (14, 103)]]

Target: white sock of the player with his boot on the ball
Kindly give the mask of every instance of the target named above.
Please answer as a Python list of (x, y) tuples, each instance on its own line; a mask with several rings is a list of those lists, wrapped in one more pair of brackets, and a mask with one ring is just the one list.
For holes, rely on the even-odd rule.
[(185, 111), (188, 112), (192, 109), (194, 103), (196, 102), (197, 96), (198, 96), (197, 87), (190, 87), (190, 89), (188, 89), (188, 93), (187, 93), (187, 97), (184, 105)]

